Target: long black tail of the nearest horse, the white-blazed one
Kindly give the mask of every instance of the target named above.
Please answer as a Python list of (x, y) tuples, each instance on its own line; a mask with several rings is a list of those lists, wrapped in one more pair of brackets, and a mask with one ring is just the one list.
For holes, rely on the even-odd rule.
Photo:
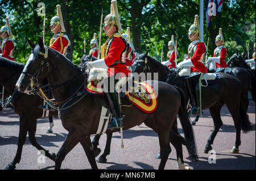
[(196, 161), (198, 159), (197, 156), (197, 149), (196, 149), (196, 141), (193, 133), (193, 128), (191, 125), (191, 120), (189, 118), (188, 112), (187, 112), (187, 104), (185, 99), (185, 94), (183, 90), (181, 90), (179, 87), (175, 86), (177, 91), (180, 93), (181, 97), (181, 106), (179, 109), (179, 119), (180, 124), (184, 132), (185, 141), (187, 143), (187, 149), (188, 153), (191, 156), (193, 161)]

